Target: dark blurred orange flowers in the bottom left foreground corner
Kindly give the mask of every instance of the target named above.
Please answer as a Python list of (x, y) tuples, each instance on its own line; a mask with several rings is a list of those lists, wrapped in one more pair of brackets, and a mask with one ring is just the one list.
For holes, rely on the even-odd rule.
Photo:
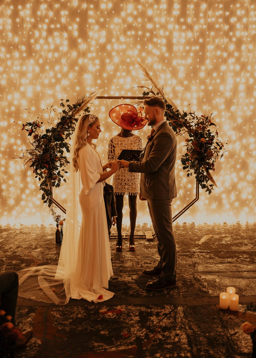
[(11, 323), (11, 316), (0, 310), (0, 348), (1, 357), (14, 357), (16, 340), (22, 338), (22, 332)]

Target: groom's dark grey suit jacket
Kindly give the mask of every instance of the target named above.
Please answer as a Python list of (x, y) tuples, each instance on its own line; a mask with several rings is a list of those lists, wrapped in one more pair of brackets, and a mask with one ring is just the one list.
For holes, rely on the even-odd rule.
[(164, 122), (147, 142), (142, 161), (130, 161), (129, 171), (142, 173), (140, 193), (144, 199), (176, 198), (176, 152), (176, 135)]

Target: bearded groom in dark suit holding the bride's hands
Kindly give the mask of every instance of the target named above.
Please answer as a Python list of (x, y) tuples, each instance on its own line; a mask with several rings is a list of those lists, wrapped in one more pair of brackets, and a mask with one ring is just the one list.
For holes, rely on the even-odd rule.
[(176, 243), (172, 232), (171, 202), (176, 198), (175, 159), (177, 139), (165, 120), (165, 102), (152, 96), (143, 102), (147, 125), (152, 127), (142, 161), (121, 160), (120, 165), (129, 171), (142, 173), (140, 200), (147, 200), (153, 228), (157, 236), (160, 260), (152, 270), (143, 270), (148, 277), (149, 290), (176, 287)]

